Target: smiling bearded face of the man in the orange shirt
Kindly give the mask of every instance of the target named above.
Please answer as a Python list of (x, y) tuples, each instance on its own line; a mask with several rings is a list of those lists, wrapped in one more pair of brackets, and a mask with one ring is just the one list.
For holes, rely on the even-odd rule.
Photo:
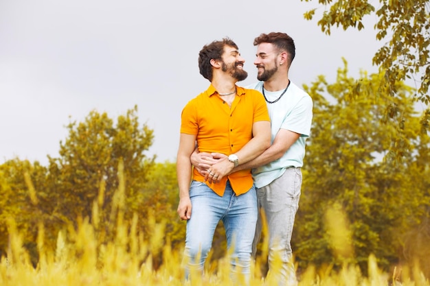
[(244, 58), (240, 56), (238, 49), (226, 45), (222, 56), (221, 69), (229, 73), (233, 78), (239, 82), (245, 80), (248, 73), (243, 69), (245, 64)]

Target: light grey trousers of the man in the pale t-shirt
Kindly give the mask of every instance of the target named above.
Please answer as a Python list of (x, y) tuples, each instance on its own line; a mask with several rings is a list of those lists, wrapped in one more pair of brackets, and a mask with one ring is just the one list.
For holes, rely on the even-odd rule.
[[(267, 186), (257, 189), (258, 206), (264, 212), (269, 228), (269, 273), (278, 285), (297, 285), (292, 261), (291, 235), (293, 233), (295, 213), (299, 208), (302, 171), (300, 168), (287, 168), (280, 178)], [(253, 243), (253, 255), (260, 240), (262, 218), (258, 216), (256, 239)], [(275, 259), (280, 259), (281, 267), (274, 267)]]

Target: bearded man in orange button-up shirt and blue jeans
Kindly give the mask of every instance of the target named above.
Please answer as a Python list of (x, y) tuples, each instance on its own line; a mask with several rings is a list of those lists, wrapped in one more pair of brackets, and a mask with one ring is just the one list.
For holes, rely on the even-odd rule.
[[(199, 69), (211, 84), (182, 110), (177, 212), (187, 220), (187, 277), (192, 269), (203, 273), (215, 228), (222, 220), (227, 248), (233, 248), (232, 278), (239, 270), (249, 278), (258, 215), (256, 189), (251, 169), (231, 170), (270, 146), (271, 128), (261, 93), (236, 86), (236, 82), (247, 78), (244, 63), (237, 45), (229, 38), (205, 45), (199, 53)], [(227, 155), (208, 169), (207, 176), (192, 171), (190, 155), (196, 143), (202, 152)]]

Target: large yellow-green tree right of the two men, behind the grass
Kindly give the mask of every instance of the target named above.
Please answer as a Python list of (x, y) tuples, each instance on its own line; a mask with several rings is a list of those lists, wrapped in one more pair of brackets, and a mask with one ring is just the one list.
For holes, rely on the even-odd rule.
[[(429, 140), (420, 132), (410, 96), (413, 90), (397, 82), (397, 96), (392, 97), (384, 77), (384, 73), (362, 73), (354, 80), (348, 77), (345, 61), (335, 83), (320, 76), (305, 86), (314, 100), (314, 118), (293, 233), (301, 267), (349, 261), (366, 270), (370, 254), (388, 267), (401, 259), (403, 235), (430, 215), (428, 180), (414, 184), (430, 174), (423, 167), (428, 165)], [(361, 93), (354, 88), (357, 83)], [(332, 100), (326, 100), (327, 95)], [(394, 164), (396, 156), (386, 156), (392, 144), (406, 150), (403, 163)], [(332, 208), (346, 213), (352, 233), (354, 253), (345, 257), (332, 255), (336, 246), (324, 220)]]

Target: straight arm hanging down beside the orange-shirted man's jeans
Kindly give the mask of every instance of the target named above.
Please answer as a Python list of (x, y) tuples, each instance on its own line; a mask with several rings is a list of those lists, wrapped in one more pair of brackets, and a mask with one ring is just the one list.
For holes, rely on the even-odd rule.
[(177, 178), (179, 185), (179, 206), (177, 212), (179, 217), (185, 220), (191, 217), (190, 182), (192, 166), (190, 155), (194, 151), (195, 142), (195, 135), (181, 133), (177, 155)]

